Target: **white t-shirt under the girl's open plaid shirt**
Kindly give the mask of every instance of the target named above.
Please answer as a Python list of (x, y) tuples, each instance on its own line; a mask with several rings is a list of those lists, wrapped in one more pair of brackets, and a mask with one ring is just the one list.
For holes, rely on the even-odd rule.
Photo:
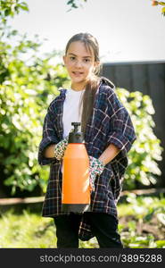
[[(82, 105), (79, 111), (79, 102), (81, 97), (84, 93), (84, 90), (76, 91), (73, 89), (68, 89), (66, 92), (65, 101), (63, 104), (63, 115), (62, 115), (62, 122), (63, 122), (63, 138), (69, 135), (70, 130), (74, 127), (71, 126), (71, 122), (81, 121), (81, 114), (82, 114)], [(80, 113), (79, 113), (80, 112)]]

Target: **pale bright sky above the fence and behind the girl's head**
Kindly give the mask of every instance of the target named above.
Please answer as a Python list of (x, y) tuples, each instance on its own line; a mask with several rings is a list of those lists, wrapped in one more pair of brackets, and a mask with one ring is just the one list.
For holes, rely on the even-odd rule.
[(151, 0), (87, 0), (68, 12), (67, 0), (27, 0), (29, 13), (12, 27), (29, 38), (46, 38), (41, 53), (64, 50), (78, 32), (98, 39), (103, 62), (165, 60), (165, 19)]

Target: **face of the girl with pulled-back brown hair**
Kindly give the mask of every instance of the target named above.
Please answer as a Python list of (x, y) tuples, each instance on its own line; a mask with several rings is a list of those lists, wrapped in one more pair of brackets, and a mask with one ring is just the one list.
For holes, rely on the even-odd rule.
[(82, 90), (85, 88), (87, 80), (95, 71), (95, 55), (87, 50), (86, 46), (80, 42), (72, 42), (67, 54), (63, 56), (63, 61), (70, 75), (71, 88)]

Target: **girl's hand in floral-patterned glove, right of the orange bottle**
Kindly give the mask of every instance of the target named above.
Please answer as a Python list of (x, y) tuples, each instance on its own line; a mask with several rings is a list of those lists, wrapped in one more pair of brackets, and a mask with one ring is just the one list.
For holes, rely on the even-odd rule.
[(99, 159), (89, 156), (89, 183), (91, 190), (95, 191), (95, 178), (101, 175), (104, 169), (104, 164)]

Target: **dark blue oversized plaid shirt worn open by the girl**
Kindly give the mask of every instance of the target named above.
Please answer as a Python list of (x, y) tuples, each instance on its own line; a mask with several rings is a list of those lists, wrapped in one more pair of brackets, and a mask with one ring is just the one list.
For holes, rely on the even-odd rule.
[[(45, 147), (57, 144), (63, 138), (62, 109), (66, 89), (49, 105), (45, 115), (43, 138), (38, 150), (38, 163), (50, 164), (50, 175), (45, 194), (42, 215), (54, 217), (62, 213), (62, 172), (61, 161), (45, 158)], [(120, 153), (107, 163), (103, 173), (95, 179), (95, 191), (91, 193), (91, 211), (112, 214), (117, 218), (116, 204), (120, 197), (121, 182), (128, 166), (127, 153), (136, 139), (136, 133), (126, 108), (114, 92), (114, 86), (102, 79), (95, 94), (93, 114), (87, 122), (85, 144), (88, 155), (98, 158), (110, 144), (120, 149)], [(79, 239), (94, 237), (82, 214)]]

